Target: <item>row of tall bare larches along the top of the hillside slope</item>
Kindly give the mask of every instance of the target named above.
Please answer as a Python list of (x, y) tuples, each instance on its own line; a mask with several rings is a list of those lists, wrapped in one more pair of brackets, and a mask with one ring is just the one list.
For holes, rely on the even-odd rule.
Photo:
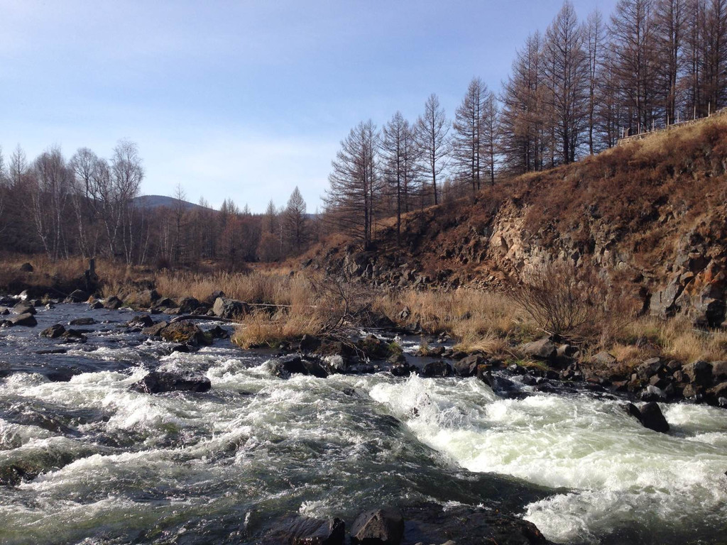
[(477, 193), (621, 137), (727, 105), (727, 0), (619, 0), (608, 22), (566, 0), (515, 53), (498, 93), (473, 78), (446, 116), (436, 94), (410, 122), (362, 121), (332, 161), (326, 217), (371, 244), (377, 217)]

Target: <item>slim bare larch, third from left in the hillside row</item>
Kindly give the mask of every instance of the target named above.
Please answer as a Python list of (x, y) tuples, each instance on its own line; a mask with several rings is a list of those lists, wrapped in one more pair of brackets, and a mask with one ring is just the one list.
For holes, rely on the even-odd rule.
[(430, 179), (434, 203), (437, 198), (437, 177), (447, 166), (449, 154), (449, 128), (444, 108), (436, 94), (430, 94), (424, 105), (424, 113), (417, 119), (417, 142), (422, 154), (422, 169)]

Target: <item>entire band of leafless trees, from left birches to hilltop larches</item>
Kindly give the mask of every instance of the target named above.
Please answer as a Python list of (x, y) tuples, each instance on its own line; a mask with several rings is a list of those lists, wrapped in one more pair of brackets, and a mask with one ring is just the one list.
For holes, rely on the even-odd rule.
[(579, 20), (566, 1), (545, 33), (515, 54), (499, 92), (473, 78), (454, 118), (435, 94), (414, 121), (363, 121), (332, 163), (325, 209), (307, 214), (295, 188), (265, 214), (231, 199), (138, 206), (140, 150), (121, 141), (103, 158), (52, 147), (29, 159), (0, 150), (0, 251), (49, 259), (233, 270), (279, 261), (333, 232), (362, 247), (377, 220), (477, 193), (502, 177), (550, 169), (616, 145), (619, 137), (708, 116), (727, 105), (727, 0), (619, 0), (608, 21)]

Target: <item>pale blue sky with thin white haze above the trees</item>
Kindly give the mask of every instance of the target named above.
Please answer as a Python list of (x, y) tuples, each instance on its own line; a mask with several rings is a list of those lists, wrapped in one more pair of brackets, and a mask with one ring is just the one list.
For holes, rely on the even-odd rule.
[[(574, 0), (585, 19), (616, 0)], [(142, 193), (309, 211), (358, 121), (449, 116), (473, 76), (499, 90), (561, 0), (0, 0), (0, 145), (111, 156), (137, 142)]]

